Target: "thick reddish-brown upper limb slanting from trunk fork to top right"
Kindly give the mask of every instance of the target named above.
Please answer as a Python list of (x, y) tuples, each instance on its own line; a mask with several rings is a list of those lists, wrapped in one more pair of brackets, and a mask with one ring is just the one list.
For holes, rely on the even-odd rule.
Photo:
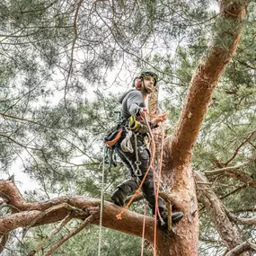
[[(221, 1), (221, 15), (218, 19), (219, 31), (216, 33), (213, 46), (209, 49), (207, 57), (201, 61), (191, 79), (187, 101), (172, 139), (166, 140), (166, 147), (170, 155), (168, 162), (171, 162), (172, 165), (182, 164), (190, 159), (191, 149), (199, 135), (199, 128), (206, 116), (214, 89), (225, 71), (225, 66), (234, 56), (240, 40), (246, 4), (245, 0)], [(225, 26), (225, 23), (229, 25)]]

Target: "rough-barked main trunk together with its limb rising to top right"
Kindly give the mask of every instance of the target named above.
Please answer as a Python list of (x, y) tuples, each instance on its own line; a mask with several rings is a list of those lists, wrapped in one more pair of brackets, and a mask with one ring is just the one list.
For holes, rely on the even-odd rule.
[[(245, 4), (246, 1), (221, 2), (220, 27), (216, 40), (192, 77), (179, 124), (172, 138), (168, 138), (165, 143), (164, 180), (169, 182), (172, 194), (178, 199), (176, 207), (185, 214), (177, 225), (177, 234), (170, 240), (170, 252), (165, 255), (198, 255), (199, 215), (195, 182), (190, 168), (191, 150), (199, 135), (199, 128), (206, 116), (216, 84), (237, 48)], [(225, 26), (225, 22), (229, 26)]]

